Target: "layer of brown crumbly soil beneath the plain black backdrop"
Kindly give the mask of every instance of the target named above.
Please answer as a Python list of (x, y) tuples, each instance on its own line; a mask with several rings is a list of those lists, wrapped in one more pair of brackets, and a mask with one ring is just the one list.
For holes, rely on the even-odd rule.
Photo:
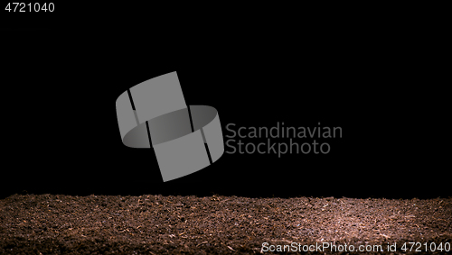
[[(337, 252), (342, 247), (349, 253), (353, 245), (351, 253), (363, 254), (360, 245), (381, 245), (383, 252), (372, 253), (398, 254), (410, 241), (419, 244), (409, 252), (407, 243), (404, 253), (421, 254), (415, 251), (419, 246), (431, 252), (432, 242), (443, 250), (435, 253), (450, 249), (451, 197), (14, 195), (0, 200), (0, 254), (292, 254), (297, 252), (289, 248), (296, 247), (330, 253), (332, 247), (315, 246), (324, 242), (336, 245)], [(268, 251), (278, 247), (286, 251)]]

